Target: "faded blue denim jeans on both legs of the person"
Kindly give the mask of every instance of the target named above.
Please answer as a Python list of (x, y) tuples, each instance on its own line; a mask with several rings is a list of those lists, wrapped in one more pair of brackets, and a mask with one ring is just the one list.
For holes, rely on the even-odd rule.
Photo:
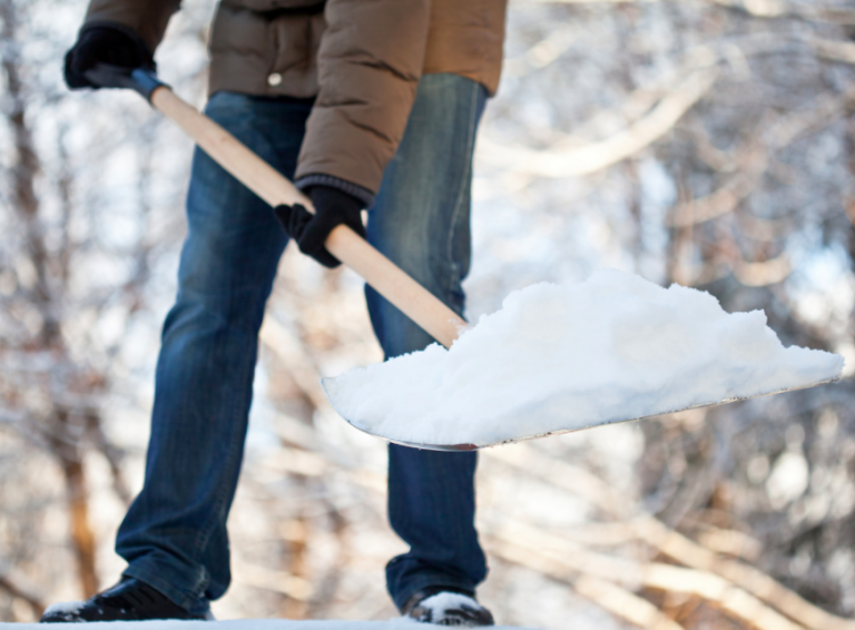
[[(368, 240), (462, 314), (470, 185), (485, 90), (429, 75), (368, 213)], [(220, 92), (206, 112), (287, 177), (311, 100)], [(258, 329), (287, 237), (271, 208), (207, 155), (194, 156), (178, 295), (164, 324), (142, 491), (116, 551), (137, 578), (204, 612), (230, 582), (226, 519), (244, 454)], [(367, 288), (387, 357), (433, 339)], [(390, 446), (389, 514), (410, 552), (386, 568), (400, 608), (428, 585), (474, 592), (487, 575), (474, 529), (474, 453)]]

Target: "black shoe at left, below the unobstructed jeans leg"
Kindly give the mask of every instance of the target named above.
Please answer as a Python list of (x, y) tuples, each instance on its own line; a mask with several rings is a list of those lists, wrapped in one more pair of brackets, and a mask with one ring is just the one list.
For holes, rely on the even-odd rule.
[(124, 578), (111, 589), (86, 601), (55, 603), (41, 616), (41, 623), (141, 621), (144, 619), (205, 619), (205, 617), (190, 614), (145, 582)]

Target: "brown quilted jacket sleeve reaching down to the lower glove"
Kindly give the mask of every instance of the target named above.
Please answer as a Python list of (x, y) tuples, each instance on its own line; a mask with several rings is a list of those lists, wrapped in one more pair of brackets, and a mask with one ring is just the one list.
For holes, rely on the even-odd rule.
[(415, 100), (430, 0), (327, 0), (325, 17), (297, 186), (340, 179), (372, 197)]

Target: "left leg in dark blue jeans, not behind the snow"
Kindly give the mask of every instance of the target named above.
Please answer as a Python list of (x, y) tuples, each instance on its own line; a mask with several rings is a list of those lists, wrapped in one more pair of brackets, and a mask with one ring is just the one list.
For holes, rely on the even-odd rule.
[[(217, 93), (207, 114), (293, 176), (311, 102)], [(178, 295), (157, 364), (142, 491), (119, 529), (125, 575), (188, 610), (230, 581), (226, 518), (243, 460), (258, 328), (287, 243), (271, 208), (200, 150)]]

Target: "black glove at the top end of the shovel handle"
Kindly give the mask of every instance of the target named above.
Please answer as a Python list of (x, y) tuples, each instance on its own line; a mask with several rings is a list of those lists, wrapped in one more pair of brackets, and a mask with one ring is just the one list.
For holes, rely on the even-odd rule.
[(98, 63), (155, 69), (155, 60), (140, 38), (127, 30), (106, 26), (83, 30), (77, 43), (66, 53), (65, 75), (68, 87), (72, 90), (100, 88), (83, 76)]

